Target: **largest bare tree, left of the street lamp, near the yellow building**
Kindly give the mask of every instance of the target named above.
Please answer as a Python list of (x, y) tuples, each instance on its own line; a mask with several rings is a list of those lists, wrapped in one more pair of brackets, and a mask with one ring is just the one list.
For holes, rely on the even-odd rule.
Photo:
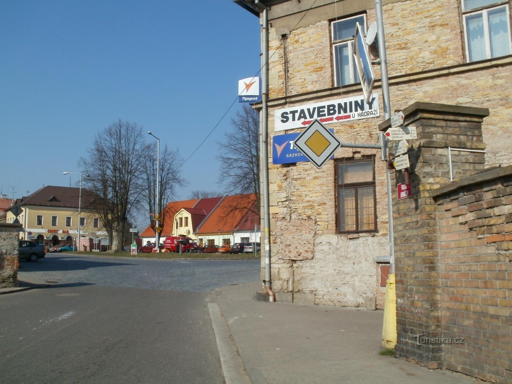
[(142, 128), (119, 119), (98, 133), (87, 158), (78, 161), (90, 175), (84, 186), (92, 193), (89, 206), (100, 218), (109, 236), (110, 247), (116, 233), (116, 249), (124, 244), (127, 220), (140, 207), (137, 179), (143, 172), (148, 144)]

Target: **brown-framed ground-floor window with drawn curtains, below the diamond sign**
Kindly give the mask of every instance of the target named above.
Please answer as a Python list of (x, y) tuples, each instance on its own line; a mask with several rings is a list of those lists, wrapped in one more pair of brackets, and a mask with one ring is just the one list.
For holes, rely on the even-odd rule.
[(375, 232), (374, 158), (336, 162), (338, 233)]

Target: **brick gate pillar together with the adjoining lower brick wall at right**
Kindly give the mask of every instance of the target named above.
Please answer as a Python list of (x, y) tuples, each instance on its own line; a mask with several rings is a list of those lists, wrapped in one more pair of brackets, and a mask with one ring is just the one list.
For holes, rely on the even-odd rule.
[[(451, 183), (447, 147), (485, 148), (488, 111), (414, 103), (403, 113), (418, 139), (409, 150), (413, 196), (393, 197), (396, 355), (509, 382), (512, 166), (484, 170), (483, 153), (461, 152)], [(393, 172), (392, 183), (401, 181)]]

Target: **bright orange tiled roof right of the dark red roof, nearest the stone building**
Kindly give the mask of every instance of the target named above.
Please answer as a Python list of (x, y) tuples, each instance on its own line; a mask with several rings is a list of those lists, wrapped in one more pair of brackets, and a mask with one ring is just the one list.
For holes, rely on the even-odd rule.
[[(255, 203), (255, 194), (226, 196), (196, 229), (196, 234), (217, 233), (219, 230), (230, 233), (233, 230), (239, 230), (240, 224), (248, 226), (242, 221), (249, 211), (255, 210)], [(254, 224), (252, 224), (252, 229), (254, 229)]]

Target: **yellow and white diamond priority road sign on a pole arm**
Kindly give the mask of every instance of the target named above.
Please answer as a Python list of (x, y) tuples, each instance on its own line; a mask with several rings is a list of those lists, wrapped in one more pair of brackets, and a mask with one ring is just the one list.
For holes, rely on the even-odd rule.
[(322, 168), (342, 143), (324, 124), (315, 119), (296, 138), (294, 145), (317, 168)]

